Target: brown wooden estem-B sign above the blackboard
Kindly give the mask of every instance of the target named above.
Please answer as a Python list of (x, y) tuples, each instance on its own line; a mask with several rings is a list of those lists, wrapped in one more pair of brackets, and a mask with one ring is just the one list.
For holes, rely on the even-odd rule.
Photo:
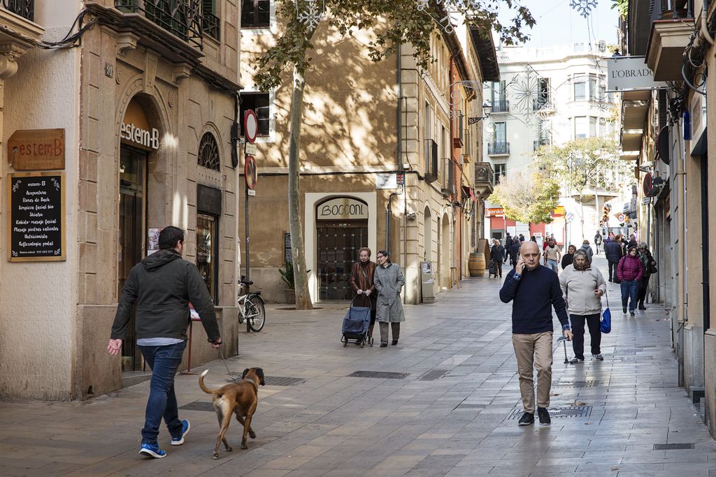
[(7, 160), (19, 171), (64, 169), (64, 129), (24, 129), (7, 141)]

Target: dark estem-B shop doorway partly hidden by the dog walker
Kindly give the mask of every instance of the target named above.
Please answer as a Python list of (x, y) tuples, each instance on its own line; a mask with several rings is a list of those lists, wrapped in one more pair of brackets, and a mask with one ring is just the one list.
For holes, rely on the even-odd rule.
[[(145, 177), (147, 153), (122, 145), (120, 149), (120, 227), (119, 227), (119, 294), (122, 294), (130, 270), (142, 260), (145, 250)], [(122, 371), (142, 369), (137, 348), (135, 313), (122, 341)]]

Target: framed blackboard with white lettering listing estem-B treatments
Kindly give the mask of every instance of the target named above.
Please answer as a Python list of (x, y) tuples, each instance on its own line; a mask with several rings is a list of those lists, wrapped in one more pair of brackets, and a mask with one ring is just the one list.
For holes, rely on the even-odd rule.
[(65, 260), (64, 172), (9, 174), (11, 262)]

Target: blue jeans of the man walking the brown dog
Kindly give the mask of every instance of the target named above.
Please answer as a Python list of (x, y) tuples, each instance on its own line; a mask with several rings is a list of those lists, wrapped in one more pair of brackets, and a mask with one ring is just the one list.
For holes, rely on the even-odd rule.
[(152, 368), (142, 443), (157, 443), (162, 418), (172, 436), (181, 432), (177, 397), (174, 393), (174, 375), (181, 363), (185, 346), (186, 341), (175, 345), (140, 346), (142, 355)]

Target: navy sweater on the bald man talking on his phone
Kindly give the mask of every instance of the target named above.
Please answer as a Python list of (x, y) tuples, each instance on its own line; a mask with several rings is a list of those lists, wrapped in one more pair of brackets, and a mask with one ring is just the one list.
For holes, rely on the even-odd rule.
[(562, 327), (569, 325), (559, 278), (543, 265), (535, 270), (524, 267), (519, 280), (515, 277), (515, 269), (511, 270), (500, 290), (500, 300), (513, 302), (512, 333), (531, 335), (553, 331), (551, 307), (554, 307)]

